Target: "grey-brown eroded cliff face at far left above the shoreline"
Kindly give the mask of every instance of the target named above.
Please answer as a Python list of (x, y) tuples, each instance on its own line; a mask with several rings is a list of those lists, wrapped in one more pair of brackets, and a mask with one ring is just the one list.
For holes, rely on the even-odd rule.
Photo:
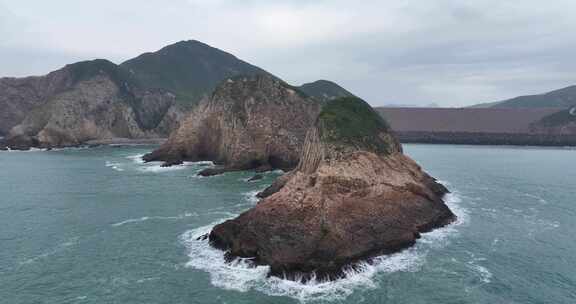
[(140, 89), (111, 62), (82, 62), (60, 73), (65, 85), (39, 97), (28, 109), (25, 118), (10, 130), (6, 139), (9, 147), (62, 147), (99, 139), (165, 137), (182, 116), (174, 106), (173, 94)]

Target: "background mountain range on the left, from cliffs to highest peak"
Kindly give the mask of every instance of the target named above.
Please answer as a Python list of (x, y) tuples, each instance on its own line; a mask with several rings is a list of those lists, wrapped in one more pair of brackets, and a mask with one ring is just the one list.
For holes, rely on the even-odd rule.
[[(0, 112), (0, 136), (6, 137), (8, 145), (21, 149), (78, 145), (115, 137), (167, 137), (184, 114), (209, 97), (222, 81), (254, 75), (282, 81), (230, 53), (185, 40), (121, 64), (94, 59), (68, 64), (44, 76), (0, 78), (0, 108), (5, 109)], [(98, 94), (87, 88), (88, 83), (106, 92)], [(331, 82), (315, 83), (306, 88), (319, 100), (344, 90)], [(302, 92), (300, 87), (291, 87)], [(92, 100), (94, 105), (88, 109), (89, 98), (119, 105), (106, 108), (102, 100)], [(107, 109), (121, 113), (107, 113)], [(78, 117), (72, 119), (74, 115)], [(44, 130), (47, 125), (51, 131)], [(77, 132), (80, 129), (84, 131)], [(40, 134), (43, 130), (46, 132)]]

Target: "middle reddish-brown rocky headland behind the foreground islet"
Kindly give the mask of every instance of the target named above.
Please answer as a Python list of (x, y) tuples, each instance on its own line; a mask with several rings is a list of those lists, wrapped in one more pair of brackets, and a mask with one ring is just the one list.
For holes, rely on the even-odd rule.
[[(203, 175), (298, 164), (306, 131), (320, 103), (268, 75), (224, 81), (145, 161), (211, 160), (221, 165)], [(217, 172), (216, 172), (217, 171)]]

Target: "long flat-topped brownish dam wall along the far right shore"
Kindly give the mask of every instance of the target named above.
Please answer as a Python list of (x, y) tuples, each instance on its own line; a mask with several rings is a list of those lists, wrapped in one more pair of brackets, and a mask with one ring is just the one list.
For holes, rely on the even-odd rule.
[(378, 108), (402, 142), (576, 146), (576, 107)]

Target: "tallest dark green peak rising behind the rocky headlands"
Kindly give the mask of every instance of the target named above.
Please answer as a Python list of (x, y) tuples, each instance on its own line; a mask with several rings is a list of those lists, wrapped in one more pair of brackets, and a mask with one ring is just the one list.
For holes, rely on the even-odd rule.
[(146, 88), (162, 88), (190, 108), (224, 79), (239, 75), (270, 75), (234, 55), (195, 40), (180, 41), (120, 65)]

